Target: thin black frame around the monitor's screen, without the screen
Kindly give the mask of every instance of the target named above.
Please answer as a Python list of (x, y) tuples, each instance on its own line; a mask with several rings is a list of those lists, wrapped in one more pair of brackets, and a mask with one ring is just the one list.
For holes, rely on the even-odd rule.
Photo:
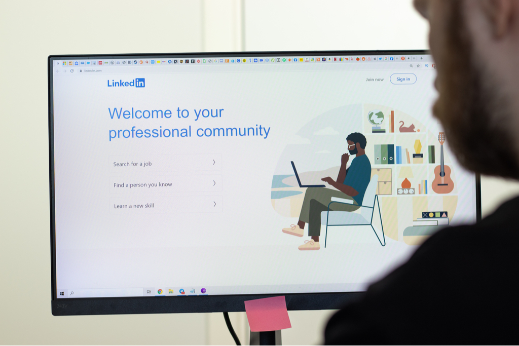
[[(52, 55), (48, 57), (49, 97), (49, 187), (50, 187), (50, 259), (51, 259), (51, 307), (54, 316), (187, 313), (187, 312), (236, 312), (245, 311), (245, 300), (284, 295), (288, 310), (339, 309), (362, 296), (362, 292), (343, 293), (283, 293), (259, 295), (214, 295), (186, 297), (117, 297), (117, 298), (56, 298), (56, 226), (54, 213), (54, 143), (53, 143), (53, 93), (52, 68), (54, 60), (70, 59), (121, 59), (121, 58), (224, 58), (224, 57), (305, 57), (305, 56), (377, 56), (420, 55), (428, 50), (365, 50), (365, 51), (275, 51), (275, 52), (216, 52), (216, 53), (145, 53), (145, 54), (89, 54)], [(94, 58), (95, 57), (95, 58)], [(481, 177), (476, 174), (476, 222), (481, 220)]]

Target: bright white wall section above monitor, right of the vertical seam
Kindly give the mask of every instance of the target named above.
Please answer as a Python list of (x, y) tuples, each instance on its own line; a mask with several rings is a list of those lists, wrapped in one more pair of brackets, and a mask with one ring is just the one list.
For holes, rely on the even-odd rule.
[(427, 49), (427, 22), (411, 0), (248, 0), (245, 49)]

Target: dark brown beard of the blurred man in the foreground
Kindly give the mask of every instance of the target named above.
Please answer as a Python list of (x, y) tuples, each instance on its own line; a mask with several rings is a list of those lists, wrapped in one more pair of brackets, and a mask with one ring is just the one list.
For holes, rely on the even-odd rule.
[(436, 88), (440, 96), (433, 114), (463, 167), (517, 179), (519, 156), (513, 140), (510, 101), (474, 51), (461, 2), (449, 3), (445, 56), (437, 61)]

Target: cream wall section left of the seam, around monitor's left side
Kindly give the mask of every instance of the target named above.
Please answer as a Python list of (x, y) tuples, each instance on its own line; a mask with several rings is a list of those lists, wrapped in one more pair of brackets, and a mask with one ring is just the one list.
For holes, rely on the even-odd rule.
[[(50, 310), (47, 56), (240, 50), (233, 24), (241, 22), (233, 17), (240, 3), (207, 3), (0, 1), (0, 344), (233, 341), (221, 313), (55, 317)], [(244, 324), (243, 314), (231, 319)]]

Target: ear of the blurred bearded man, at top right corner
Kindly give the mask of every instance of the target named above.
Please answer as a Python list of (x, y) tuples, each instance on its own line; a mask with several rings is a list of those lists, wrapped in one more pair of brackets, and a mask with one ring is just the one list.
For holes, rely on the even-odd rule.
[(490, 25), (492, 26), (494, 36), (498, 39), (505, 36), (511, 30), (514, 15), (517, 11), (517, 1), (480, 0), (480, 3)]

